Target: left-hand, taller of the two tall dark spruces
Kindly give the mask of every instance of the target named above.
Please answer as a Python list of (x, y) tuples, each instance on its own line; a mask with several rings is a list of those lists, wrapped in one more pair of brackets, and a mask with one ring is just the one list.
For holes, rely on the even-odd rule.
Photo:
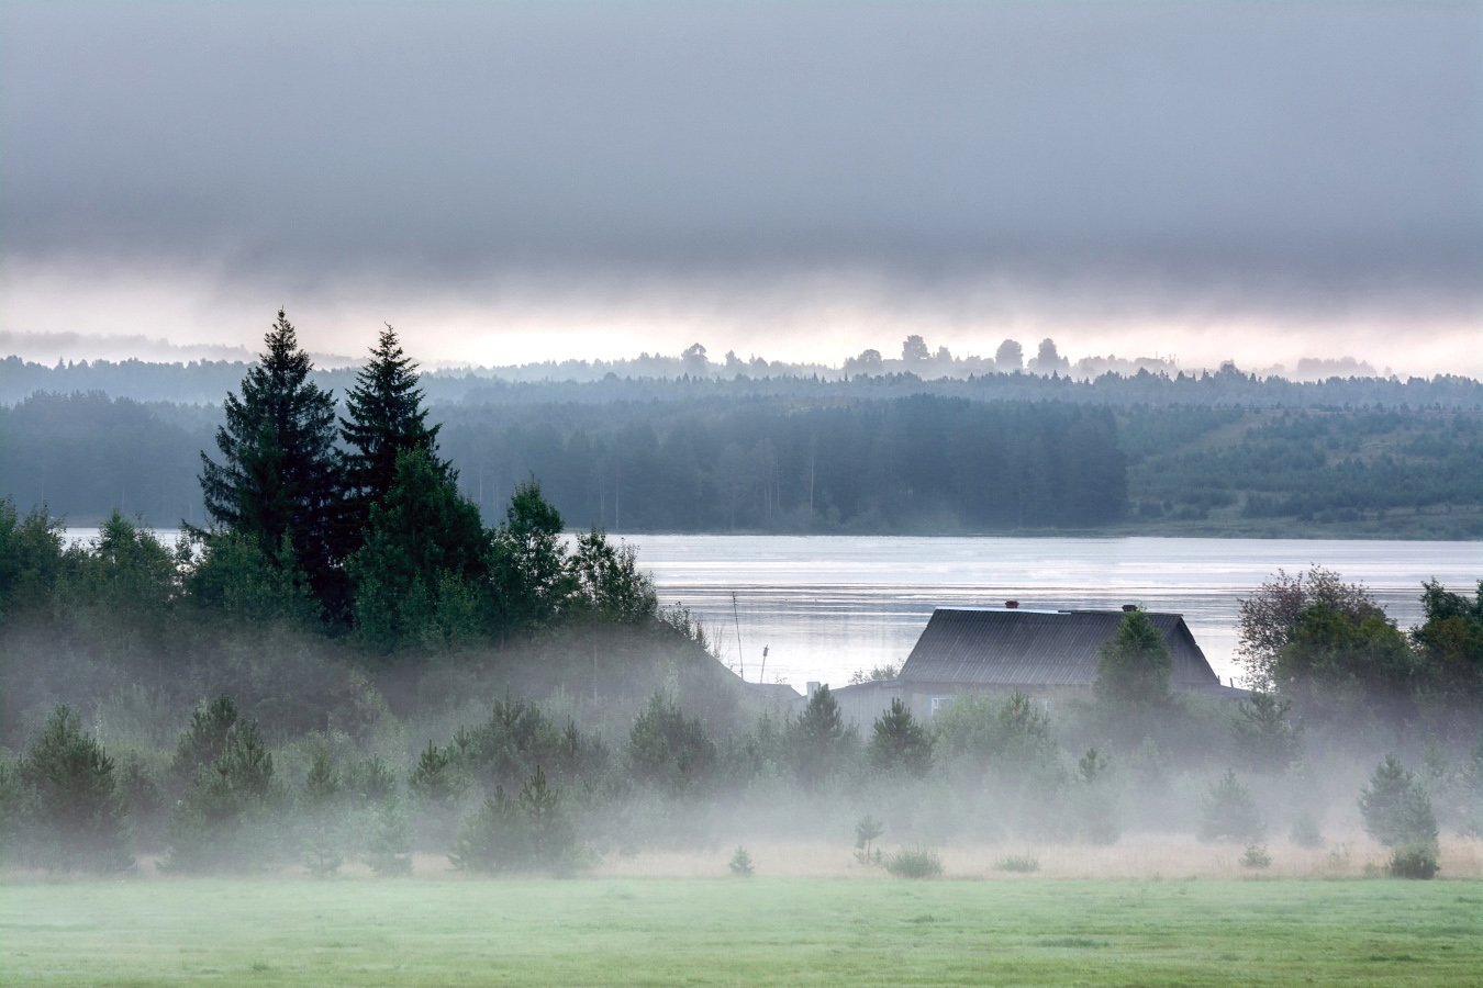
[(262, 342), (242, 395), (227, 394), (217, 430), (222, 462), (200, 455), (206, 511), (267, 557), (277, 557), (288, 536), (314, 595), (338, 613), (335, 398), (308, 379), (313, 366), (283, 310)]

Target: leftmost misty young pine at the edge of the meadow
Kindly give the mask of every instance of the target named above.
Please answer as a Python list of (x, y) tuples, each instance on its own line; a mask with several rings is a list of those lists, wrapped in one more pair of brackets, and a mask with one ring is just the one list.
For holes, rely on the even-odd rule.
[(113, 758), (58, 707), (19, 764), (30, 790), (30, 827), (47, 868), (120, 871), (133, 865)]

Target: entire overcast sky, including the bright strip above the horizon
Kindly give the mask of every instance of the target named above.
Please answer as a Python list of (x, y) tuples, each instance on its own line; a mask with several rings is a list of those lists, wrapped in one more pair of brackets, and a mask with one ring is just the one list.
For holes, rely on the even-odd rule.
[(1483, 375), (1483, 1), (0, 12), (9, 333)]

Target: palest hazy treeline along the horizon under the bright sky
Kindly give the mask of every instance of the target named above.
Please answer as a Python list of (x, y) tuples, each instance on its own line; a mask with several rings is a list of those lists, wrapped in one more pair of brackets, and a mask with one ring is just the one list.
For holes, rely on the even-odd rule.
[[(688, 373), (682, 358), (653, 357), (621, 361), (614, 370), (587, 361), (532, 364), (492, 370), (436, 370), (424, 373), (421, 388), (432, 404), (550, 404), (611, 401), (696, 401), (774, 398), (828, 403), (866, 398), (899, 398), (914, 394), (968, 398), (974, 401), (1065, 401), (1075, 404), (1212, 406), (1252, 409), (1384, 407), (1384, 409), (1483, 409), (1483, 382), (1462, 376), (1436, 378), (1329, 378), (1321, 382), (1259, 378), (1226, 366), (1215, 373), (1164, 373), (1149, 369), (1106, 372), (1097, 376), (1062, 372), (1000, 373), (986, 370), (942, 376), (930, 361), (915, 372), (884, 369), (845, 372), (823, 369), (792, 373), (776, 364), (743, 363), (734, 370), (707, 364)], [(15, 404), (37, 391), (56, 394), (101, 391), (116, 398), (184, 404), (219, 403), (236, 388), (246, 370), (239, 361), (193, 361), (188, 364), (125, 361), (58, 363), (53, 367), (0, 360), (0, 404)], [(535, 375), (543, 379), (531, 379)], [(344, 394), (354, 385), (353, 367), (314, 370), (322, 388)]]

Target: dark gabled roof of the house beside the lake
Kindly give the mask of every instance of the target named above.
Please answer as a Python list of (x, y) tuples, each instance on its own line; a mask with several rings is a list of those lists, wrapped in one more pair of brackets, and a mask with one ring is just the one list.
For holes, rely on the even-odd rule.
[[(902, 667), (906, 683), (942, 686), (1091, 686), (1120, 610), (939, 607)], [(1219, 686), (1182, 615), (1149, 613), (1173, 659), (1176, 689)]]

